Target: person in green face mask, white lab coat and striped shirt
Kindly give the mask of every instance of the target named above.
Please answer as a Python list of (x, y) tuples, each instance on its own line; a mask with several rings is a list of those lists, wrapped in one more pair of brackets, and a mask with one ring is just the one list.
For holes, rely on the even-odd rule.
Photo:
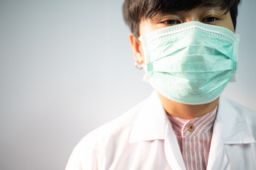
[(239, 0), (126, 0), (137, 68), (155, 92), (85, 136), (66, 169), (255, 169), (256, 113), (220, 93), (235, 76)]

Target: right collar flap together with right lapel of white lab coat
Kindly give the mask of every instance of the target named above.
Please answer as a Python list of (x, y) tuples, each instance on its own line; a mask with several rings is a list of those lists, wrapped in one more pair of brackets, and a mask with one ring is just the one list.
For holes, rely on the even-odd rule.
[(213, 125), (213, 137), (207, 169), (225, 169), (229, 164), (225, 145), (255, 142), (238, 111), (224, 97), (220, 97), (218, 113)]

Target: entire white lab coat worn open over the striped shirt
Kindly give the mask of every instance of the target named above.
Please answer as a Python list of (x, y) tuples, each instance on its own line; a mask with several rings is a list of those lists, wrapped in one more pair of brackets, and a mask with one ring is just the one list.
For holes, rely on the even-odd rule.
[[(220, 97), (207, 169), (256, 169), (256, 113)], [(152, 94), (131, 111), (85, 136), (66, 170), (186, 169), (176, 135)]]

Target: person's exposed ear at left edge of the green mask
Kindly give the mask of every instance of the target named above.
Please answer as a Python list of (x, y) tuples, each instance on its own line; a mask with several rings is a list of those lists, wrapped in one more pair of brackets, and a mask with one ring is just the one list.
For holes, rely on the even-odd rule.
[(129, 35), (129, 40), (132, 45), (132, 54), (134, 55), (134, 60), (138, 64), (144, 63), (142, 43), (139, 42), (139, 40), (132, 33)]

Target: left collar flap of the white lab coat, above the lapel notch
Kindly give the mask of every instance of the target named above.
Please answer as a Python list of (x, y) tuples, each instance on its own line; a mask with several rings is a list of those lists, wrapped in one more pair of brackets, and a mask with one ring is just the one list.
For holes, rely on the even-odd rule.
[(134, 120), (129, 142), (164, 140), (166, 125), (169, 120), (156, 91), (144, 101), (143, 105), (142, 110), (139, 111)]

